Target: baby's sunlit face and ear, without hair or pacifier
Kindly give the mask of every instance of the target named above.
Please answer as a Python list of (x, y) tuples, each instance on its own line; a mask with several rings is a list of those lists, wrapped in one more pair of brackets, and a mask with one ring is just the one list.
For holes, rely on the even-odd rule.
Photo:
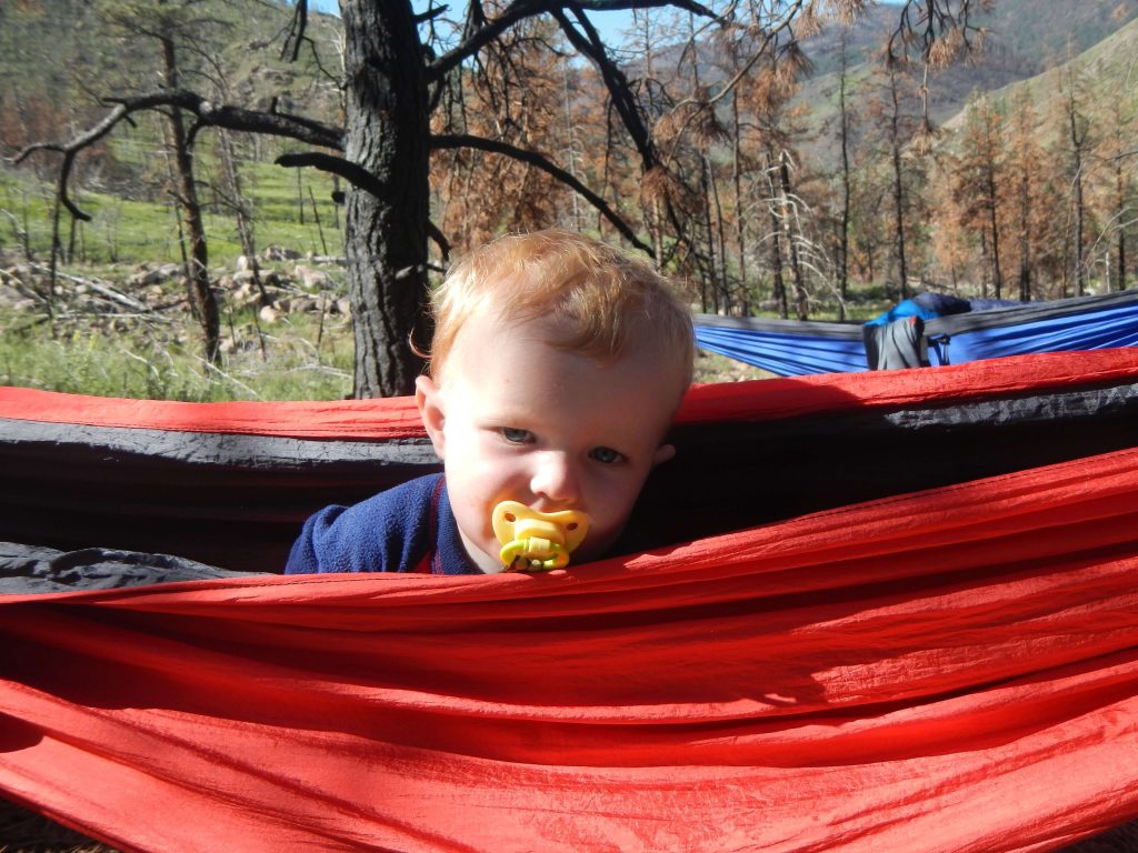
[(555, 332), (550, 320), (476, 315), (438, 383), (419, 380), (459, 529), (487, 572), (503, 568), (490, 525), (500, 502), (586, 513), (572, 562), (594, 560), (620, 535), (652, 466), (674, 453), (660, 442), (681, 395), (677, 368), (637, 346), (599, 365), (546, 343)]

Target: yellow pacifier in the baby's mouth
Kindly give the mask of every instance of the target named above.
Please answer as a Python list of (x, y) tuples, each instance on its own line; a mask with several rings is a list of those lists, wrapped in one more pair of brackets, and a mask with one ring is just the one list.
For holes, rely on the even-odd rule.
[(541, 513), (517, 500), (503, 500), (490, 517), (502, 543), (508, 571), (547, 572), (569, 565), (569, 553), (585, 539), (588, 516), (576, 510)]

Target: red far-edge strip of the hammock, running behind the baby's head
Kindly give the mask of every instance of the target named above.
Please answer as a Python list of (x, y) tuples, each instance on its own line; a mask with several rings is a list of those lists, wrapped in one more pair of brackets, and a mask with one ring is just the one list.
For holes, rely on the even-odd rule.
[[(1132, 378), (1138, 348), (1044, 353), (939, 367), (935, 371), (798, 376), (696, 386), (681, 408), (681, 424), (773, 420), (813, 412), (941, 404), (1082, 387)], [(396, 439), (423, 432), (410, 397), (333, 403), (179, 403), (0, 388), (0, 419), (295, 438)]]

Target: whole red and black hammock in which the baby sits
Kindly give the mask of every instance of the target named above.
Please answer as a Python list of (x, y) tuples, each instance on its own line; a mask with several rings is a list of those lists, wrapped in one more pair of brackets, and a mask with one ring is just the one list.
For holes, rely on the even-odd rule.
[(413, 407), (0, 417), (0, 538), (49, 569), (0, 596), (0, 790), (124, 848), (1040, 851), (1138, 815), (1133, 350), (696, 389), (645, 550), (554, 575), (92, 589), (46, 548), (279, 571), (311, 511), (434, 467)]

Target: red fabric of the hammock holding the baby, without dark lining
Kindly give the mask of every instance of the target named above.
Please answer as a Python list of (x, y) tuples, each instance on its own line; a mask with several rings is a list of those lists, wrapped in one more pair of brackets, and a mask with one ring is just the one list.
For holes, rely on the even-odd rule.
[[(702, 389), (683, 420), (1136, 380), (1133, 351), (1026, 357)], [(1136, 522), (1123, 447), (564, 574), (10, 595), (0, 790), (163, 853), (1052, 850), (1138, 815)]]

